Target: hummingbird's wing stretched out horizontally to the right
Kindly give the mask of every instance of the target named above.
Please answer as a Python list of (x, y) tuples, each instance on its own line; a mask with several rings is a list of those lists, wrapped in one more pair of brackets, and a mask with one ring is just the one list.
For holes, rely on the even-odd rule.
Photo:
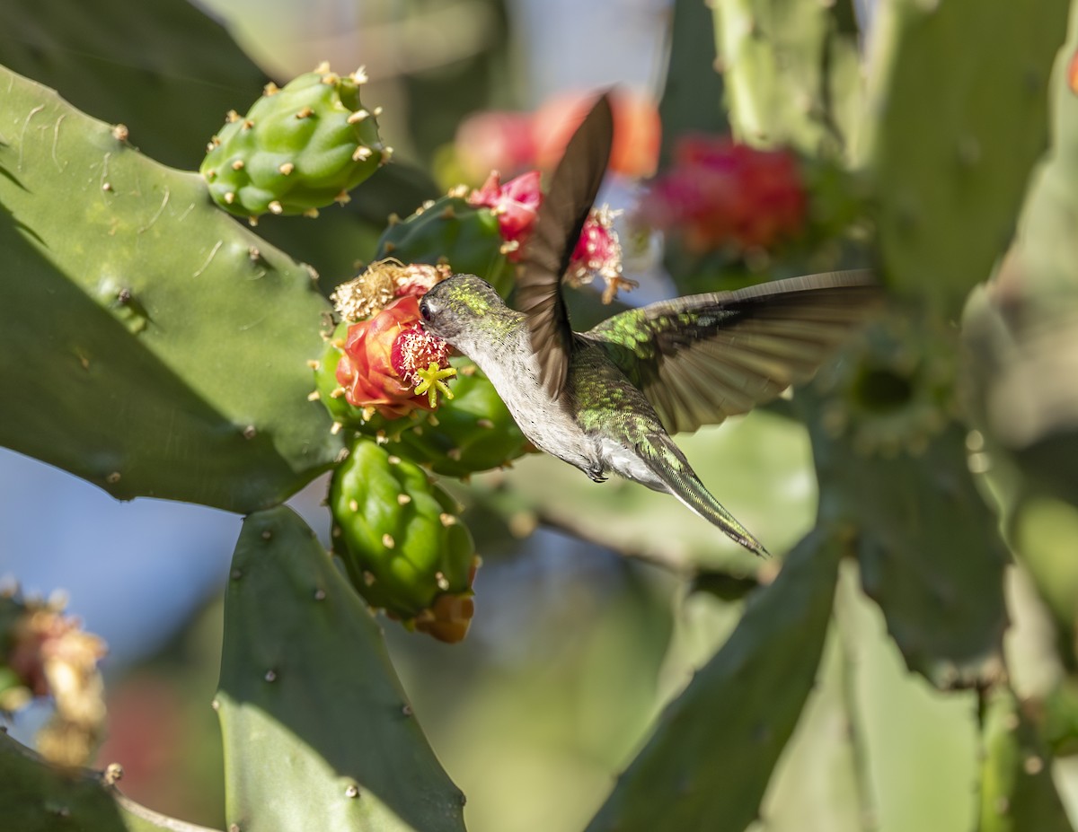
[(881, 302), (868, 271), (677, 297), (614, 315), (599, 342), (671, 432), (746, 413), (807, 380)]

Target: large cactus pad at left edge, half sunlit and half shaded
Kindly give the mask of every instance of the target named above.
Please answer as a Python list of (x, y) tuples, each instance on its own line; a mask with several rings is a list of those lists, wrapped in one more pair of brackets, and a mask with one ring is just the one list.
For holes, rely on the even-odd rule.
[(309, 273), (124, 130), (0, 84), (0, 444), (121, 499), (243, 512), (328, 468)]

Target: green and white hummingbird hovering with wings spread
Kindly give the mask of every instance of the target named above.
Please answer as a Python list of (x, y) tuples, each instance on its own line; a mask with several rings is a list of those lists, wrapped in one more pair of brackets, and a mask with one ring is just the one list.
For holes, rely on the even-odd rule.
[(538, 448), (596, 483), (612, 472), (671, 494), (768, 555), (671, 434), (746, 413), (807, 380), (863, 321), (879, 288), (868, 271), (830, 272), (661, 301), (573, 332), (562, 282), (612, 137), (603, 95), (551, 177), (522, 251), (516, 308), (482, 278), (455, 274), (420, 300), (423, 325), (475, 362)]

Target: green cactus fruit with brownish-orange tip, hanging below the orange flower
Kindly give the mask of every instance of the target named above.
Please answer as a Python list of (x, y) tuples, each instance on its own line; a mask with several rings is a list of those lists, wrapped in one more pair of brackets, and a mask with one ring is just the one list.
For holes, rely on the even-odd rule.
[(454, 499), (416, 463), (359, 436), (329, 503), (333, 549), (359, 594), (410, 629), (462, 639), (479, 559)]

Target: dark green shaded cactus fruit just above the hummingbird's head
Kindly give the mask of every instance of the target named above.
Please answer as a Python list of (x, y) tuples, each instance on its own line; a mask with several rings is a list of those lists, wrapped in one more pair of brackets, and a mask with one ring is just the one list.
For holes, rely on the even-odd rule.
[(447, 263), (456, 273), (479, 275), (506, 296), (512, 285), (512, 265), (503, 246), (494, 212), (453, 193), (389, 225), (378, 239), (374, 259)]

